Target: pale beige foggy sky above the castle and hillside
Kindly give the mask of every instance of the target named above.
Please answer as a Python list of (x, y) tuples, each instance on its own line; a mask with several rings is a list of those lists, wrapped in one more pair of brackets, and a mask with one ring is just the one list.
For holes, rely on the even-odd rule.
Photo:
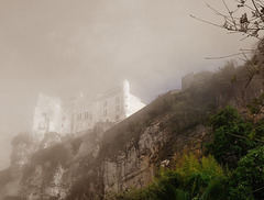
[(190, 14), (223, 23), (197, 0), (0, 0), (0, 169), (11, 138), (31, 131), (38, 92), (92, 97), (128, 79), (148, 103), (185, 74), (226, 62), (205, 57), (254, 43)]

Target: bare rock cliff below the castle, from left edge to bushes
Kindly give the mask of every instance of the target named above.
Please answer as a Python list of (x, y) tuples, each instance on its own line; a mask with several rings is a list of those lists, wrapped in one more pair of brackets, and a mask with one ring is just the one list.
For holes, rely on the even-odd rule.
[[(112, 142), (108, 141), (107, 134), (116, 133), (114, 129), (109, 130), (112, 124), (98, 124), (94, 132), (70, 140), (58, 140), (55, 133), (47, 134), (48, 138), (38, 144), (37, 151), (25, 152), (31, 149), (30, 146), (16, 144), (14, 151), (23, 152), (23, 155), (13, 154), (16, 162), (11, 168), (19, 164), (20, 167), (11, 170), (12, 179), (4, 186), (1, 197), (102, 199), (110, 191), (145, 186), (152, 181), (164, 159), (179, 156), (186, 148), (194, 148), (199, 154), (202, 151), (200, 140), (208, 132), (204, 126), (193, 130), (188, 137), (176, 136), (174, 131), (163, 125), (169, 120), (156, 119), (131, 137), (129, 135), (136, 124), (129, 125), (129, 130), (122, 133), (128, 140), (120, 146), (108, 145)], [(124, 123), (131, 124), (132, 121)], [(128, 126), (121, 124), (120, 129), (122, 125)], [(169, 142), (177, 144), (178, 155), (167, 149)]]

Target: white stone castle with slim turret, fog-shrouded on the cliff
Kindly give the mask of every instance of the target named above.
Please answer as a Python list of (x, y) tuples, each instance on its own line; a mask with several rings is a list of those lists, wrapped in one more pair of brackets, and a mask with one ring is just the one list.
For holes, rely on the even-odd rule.
[(130, 93), (128, 80), (123, 81), (122, 87), (98, 95), (94, 102), (81, 93), (67, 101), (40, 93), (32, 133), (44, 135), (47, 132), (84, 132), (98, 122), (120, 122), (143, 107), (145, 104)]

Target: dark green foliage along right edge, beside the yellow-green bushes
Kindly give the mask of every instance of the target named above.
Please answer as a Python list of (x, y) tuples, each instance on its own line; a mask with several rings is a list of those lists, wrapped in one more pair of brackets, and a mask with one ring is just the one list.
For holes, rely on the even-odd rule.
[(264, 146), (256, 140), (263, 137), (264, 121), (249, 123), (230, 105), (211, 116), (210, 121), (213, 142), (208, 148), (218, 162), (233, 168), (227, 181), (228, 197), (263, 199)]

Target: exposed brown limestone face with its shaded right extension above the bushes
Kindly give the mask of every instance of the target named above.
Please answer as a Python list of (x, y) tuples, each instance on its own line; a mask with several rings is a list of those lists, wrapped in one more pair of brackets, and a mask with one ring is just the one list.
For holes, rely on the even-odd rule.
[[(132, 138), (113, 159), (102, 162), (105, 193), (147, 185), (164, 160), (167, 160), (165, 165), (169, 165), (169, 159), (179, 158), (187, 151), (201, 156), (202, 142), (210, 140), (209, 132), (205, 126), (198, 125), (188, 136), (177, 136), (169, 129), (163, 129), (161, 121), (154, 122), (143, 130), (138, 140)], [(177, 154), (167, 148), (170, 142), (177, 147)]]

